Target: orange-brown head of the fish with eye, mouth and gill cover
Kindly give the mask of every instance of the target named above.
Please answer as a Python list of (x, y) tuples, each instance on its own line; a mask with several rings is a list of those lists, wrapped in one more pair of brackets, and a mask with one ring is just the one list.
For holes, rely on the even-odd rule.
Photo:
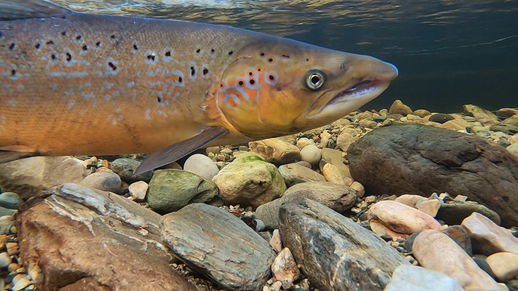
[(268, 39), (237, 53), (216, 102), (227, 127), (266, 138), (331, 123), (376, 98), (397, 75), (394, 65), (373, 57)]

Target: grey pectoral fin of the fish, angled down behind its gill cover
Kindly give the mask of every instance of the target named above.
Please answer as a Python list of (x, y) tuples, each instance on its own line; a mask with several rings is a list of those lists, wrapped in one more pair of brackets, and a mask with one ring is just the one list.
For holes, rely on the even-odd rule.
[(226, 133), (228, 133), (228, 129), (222, 127), (204, 129), (189, 139), (152, 153), (135, 169), (133, 174), (138, 175), (175, 162)]

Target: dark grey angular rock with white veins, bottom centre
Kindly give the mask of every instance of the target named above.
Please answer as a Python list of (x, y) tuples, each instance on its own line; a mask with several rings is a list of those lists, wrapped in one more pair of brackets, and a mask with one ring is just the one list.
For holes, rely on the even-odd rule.
[(394, 270), (408, 264), (370, 231), (309, 199), (281, 207), (279, 230), (318, 290), (383, 290)]

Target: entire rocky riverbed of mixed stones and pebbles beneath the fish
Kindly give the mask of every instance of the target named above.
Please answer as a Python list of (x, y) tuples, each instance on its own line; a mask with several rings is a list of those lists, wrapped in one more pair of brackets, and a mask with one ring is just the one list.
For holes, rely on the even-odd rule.
[(142, 158), (0, 165), (1, 289), (518, 290), (518, 109)]

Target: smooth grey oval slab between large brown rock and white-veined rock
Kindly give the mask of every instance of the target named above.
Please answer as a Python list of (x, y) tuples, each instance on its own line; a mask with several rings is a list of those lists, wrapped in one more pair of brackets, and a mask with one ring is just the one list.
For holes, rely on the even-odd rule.
[(175, 255), (224, 288), (259, 290), (270, 277), (275, 254), (268, 242), (223, 209), (190, 204), (161, 225)]

